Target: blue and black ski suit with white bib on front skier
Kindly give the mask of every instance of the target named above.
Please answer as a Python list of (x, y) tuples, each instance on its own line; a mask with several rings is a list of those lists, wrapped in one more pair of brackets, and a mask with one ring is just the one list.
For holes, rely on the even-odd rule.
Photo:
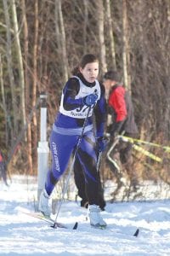
[[(82, 99), (92, 93), (97, 95), (97, 100), (88, 113), (89, 107)], [(45, 189), (51, 195), (59, 177), (67, 169), (71, 154), (74, 153), (82, 134), (87, 114), (87, 123), (76, 157), (82, 164), (89, 204), (99, 205), (96, 137), (103, 137), (104, 134), (105, 87), (98, 80), (88, 83), (81, 74), (69, 79), (62, 91), (59, 113), (50, 137), (52, 166), (48, 171)]]

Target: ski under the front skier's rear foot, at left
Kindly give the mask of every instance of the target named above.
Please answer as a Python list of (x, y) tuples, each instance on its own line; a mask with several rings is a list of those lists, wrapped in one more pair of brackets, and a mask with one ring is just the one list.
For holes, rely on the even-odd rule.
[[(38, 218), (41, 219), (42, 221), (47, 222), (48, 224), (50, 224), (51, 228), (57, 229), (57, 228), (61, 228), (61, 229), (70, 229), (67, 225), (62, 224), (60, 222), (55, 222), (53, 218), (50, 218), (48, 216), (43, 215), (41, 212), (22, 212), (26, 215), (29, 215), (33, 218)], [(74, 224), (72, 230), (77, 230), (77, 226), (78, 224)]]

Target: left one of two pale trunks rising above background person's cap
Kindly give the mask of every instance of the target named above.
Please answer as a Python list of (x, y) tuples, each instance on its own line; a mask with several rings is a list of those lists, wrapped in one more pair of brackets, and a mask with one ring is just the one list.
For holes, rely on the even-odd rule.
[(103, 0), (98, 0), (97, 4), (97, 14), (99, 17), (98, 26), (99, 26), (99, 52), (100, 52), (100, 61), (101, 61), (101, 71), (102, 75), (107, 71), (106, 57), (105, 57), (105, 36), (104, 36), (104, 6)]

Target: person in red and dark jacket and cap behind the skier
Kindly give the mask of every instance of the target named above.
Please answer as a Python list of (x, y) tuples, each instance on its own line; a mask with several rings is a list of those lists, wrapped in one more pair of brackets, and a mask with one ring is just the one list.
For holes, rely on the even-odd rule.
[[(111, 135), (112, 147), (117, 135), (134, 138), (138, 135), (138, 128), (134, 120), (131, 96), (119, 82), (116, 71), (105, 73), (103, 84), (108, 96), (108, 113), (111, 116), (111, 125), (108, 126), (107, 132)], [(132, 168), (132, 148), (132, 143), (123, 139), (117, 140), (116, 146), (112, 149), (113, 161), (111, 164), (115, 172), (120, 172), (120, 166), (117, 164), (117, 155), (119, 155), (122, 166), (125, 166), (128, 172), (131, 185), (135, 187), (138, 183), (138, 177)]]

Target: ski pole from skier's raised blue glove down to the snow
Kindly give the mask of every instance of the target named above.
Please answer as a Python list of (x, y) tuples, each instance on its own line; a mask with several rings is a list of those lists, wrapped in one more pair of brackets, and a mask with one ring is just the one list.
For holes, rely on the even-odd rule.
[(54, 225), (52, 226), (54, 229), (57, 228), (57, 218), (59, 216), (60, 208), (61, 208), (62, 203), (64, 201), (65, 193), (67, 192), (67, 189), (68, 189), (68, 183), (69, 183), (69, 180), (70, 180), (70, 177), (71, 177), (71, 172), (72, 172), (73, 167), (74, 167), (74, 163), (75, 163), (75, 160), (76, 160), (76, 157), (77, 157), (77, 152), (78, 152), (80, 143), (82, 142), (82, 137), (84, 135), (84, 129), (85, 129), (86, 123), (88, 121), (88, 115), (90, 113), (90, 110), (91, 110), (91, 107), (88, 108), (88, 113), (87, 113), (86, 119), (84, 120), (84, 124), (82, 126), (82, 133), (81, 133), (81, 136), (78, 138), (77, 147), (75, 149), (75, 153), (74, 153), (73, 160), (72, 160), (72, 163), (71, 163), (71, 168), (69, 170), (68, 177), (66, 179), (66, 183), (65, 183), (65, 186), (64, 186), (64, 189), (63, 189), (63, 193), (62, 193), (62, 196), (61, 196), (61, 201), (59, 203), (58, 211), (57, 211), (57, 214), (56, 214), (56, 217), (55, 217), (55, 220), (54, 220)]

